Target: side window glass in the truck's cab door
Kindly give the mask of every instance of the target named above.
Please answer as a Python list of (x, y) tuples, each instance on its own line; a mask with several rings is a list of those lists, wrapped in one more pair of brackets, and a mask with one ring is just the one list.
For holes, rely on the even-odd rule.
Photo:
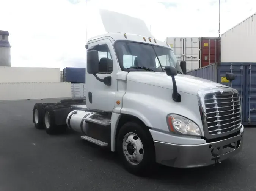
[(99, 53), (99, 73), (110, 74), (113, 71), (113, 61), (108, 45), (96, 45), (93, 50)]

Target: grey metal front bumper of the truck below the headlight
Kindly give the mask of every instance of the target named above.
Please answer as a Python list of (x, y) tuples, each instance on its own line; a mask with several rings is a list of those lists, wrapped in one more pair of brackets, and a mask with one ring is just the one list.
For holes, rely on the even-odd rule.
[[(156, 162), (176, 168), (209, 166), (234, 156), (242, 149), (243, 132), (212, 143), (176, 145), (154, 141)], [(226, 150), (232, 151), (226, 152)]]

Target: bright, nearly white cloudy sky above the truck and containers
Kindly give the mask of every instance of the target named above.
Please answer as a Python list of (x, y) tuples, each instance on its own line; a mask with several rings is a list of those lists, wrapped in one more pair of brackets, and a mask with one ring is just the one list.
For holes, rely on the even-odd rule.
[[(220, 33), (256, 12), (255, 0), (220, 0)], [(0, 0), (11, 66), (85, 67), (87, 40), (105, 33), (99, 9), (145, 21), (158, 40), (218, 37), (218, 0)], [(110, 21), (111, 22), (111, 21)], [(87, 29), (87, 30), (86, 30)]]

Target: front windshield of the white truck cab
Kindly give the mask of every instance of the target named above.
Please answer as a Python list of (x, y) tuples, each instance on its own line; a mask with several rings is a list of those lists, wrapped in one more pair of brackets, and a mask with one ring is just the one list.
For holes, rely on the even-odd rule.
[(174, 66), (178, 73), (182, 73), (176, 56), (169, 48), (119, 41), (115, 44), (115, 51), (120, 67), (124, 69), (144, 67), (149, 68), (147, 71), (163, 72), (162, 65), (163, 69), (164, 66)]

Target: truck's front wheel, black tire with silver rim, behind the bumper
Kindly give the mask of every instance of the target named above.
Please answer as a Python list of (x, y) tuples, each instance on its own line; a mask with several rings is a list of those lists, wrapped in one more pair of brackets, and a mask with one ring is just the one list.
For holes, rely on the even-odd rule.
[(124, 167), (133, 174), (145, 175), (154, 167), (154, 142), (143, 124), (124, 124), (118, 133), (117, 149)]

